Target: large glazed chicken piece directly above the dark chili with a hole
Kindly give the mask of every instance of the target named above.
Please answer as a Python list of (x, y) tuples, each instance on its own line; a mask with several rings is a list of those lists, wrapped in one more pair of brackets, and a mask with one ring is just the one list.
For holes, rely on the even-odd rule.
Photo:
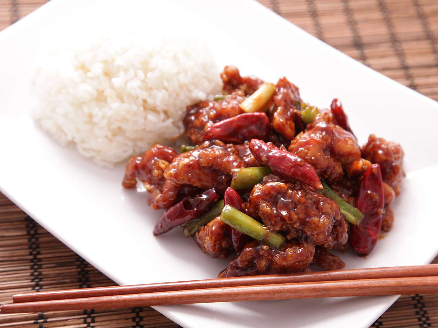
[(219, 193), (229, 186), (233, 168), (247, 167), (232, 144), (205, 141), (198, 148), (179, 154), (164, 171), (164, 177), (179, 184), (202, 189), (216, 188)]

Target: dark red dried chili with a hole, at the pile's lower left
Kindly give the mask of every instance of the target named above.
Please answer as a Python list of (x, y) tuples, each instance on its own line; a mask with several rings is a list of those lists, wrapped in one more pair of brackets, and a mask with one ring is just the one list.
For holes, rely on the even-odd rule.
[(193, 197), (185, 197), (163, 213), (155, 224), (153, 233), (164, 234), (174, 227), (197, 218), (207, 212), (218, 199), (219, 195), (214, 188)]

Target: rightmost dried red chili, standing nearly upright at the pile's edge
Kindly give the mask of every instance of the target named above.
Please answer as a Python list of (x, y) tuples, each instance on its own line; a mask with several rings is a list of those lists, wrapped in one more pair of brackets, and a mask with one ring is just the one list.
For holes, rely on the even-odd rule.
[(382, 223), (385, 195), (379, 164), (372, 164), (364, 173), (357, 193), (356, 207), (364, 213), (362, 222), (351, 225), (350, 245), (359, 255), (369, 254), (377, 243)]

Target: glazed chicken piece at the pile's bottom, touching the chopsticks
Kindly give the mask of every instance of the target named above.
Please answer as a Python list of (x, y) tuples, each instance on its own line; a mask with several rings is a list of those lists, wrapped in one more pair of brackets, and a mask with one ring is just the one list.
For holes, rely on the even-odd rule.
[(280, 249), (275, 249), (267, 244), (251, 241), (219, 273), (219, 278), (307, 271), (314, 252), (311, 242), (294, 240)]

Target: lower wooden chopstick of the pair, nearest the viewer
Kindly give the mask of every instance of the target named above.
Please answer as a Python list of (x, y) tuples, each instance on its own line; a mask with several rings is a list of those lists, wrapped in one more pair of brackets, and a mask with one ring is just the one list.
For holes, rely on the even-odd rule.
[(281, 283), (12, 303), (1, 305), (0, 312), (8, 314), (247, 300), (284, 300), (415, 293), (438, 293), (438, 276)]

